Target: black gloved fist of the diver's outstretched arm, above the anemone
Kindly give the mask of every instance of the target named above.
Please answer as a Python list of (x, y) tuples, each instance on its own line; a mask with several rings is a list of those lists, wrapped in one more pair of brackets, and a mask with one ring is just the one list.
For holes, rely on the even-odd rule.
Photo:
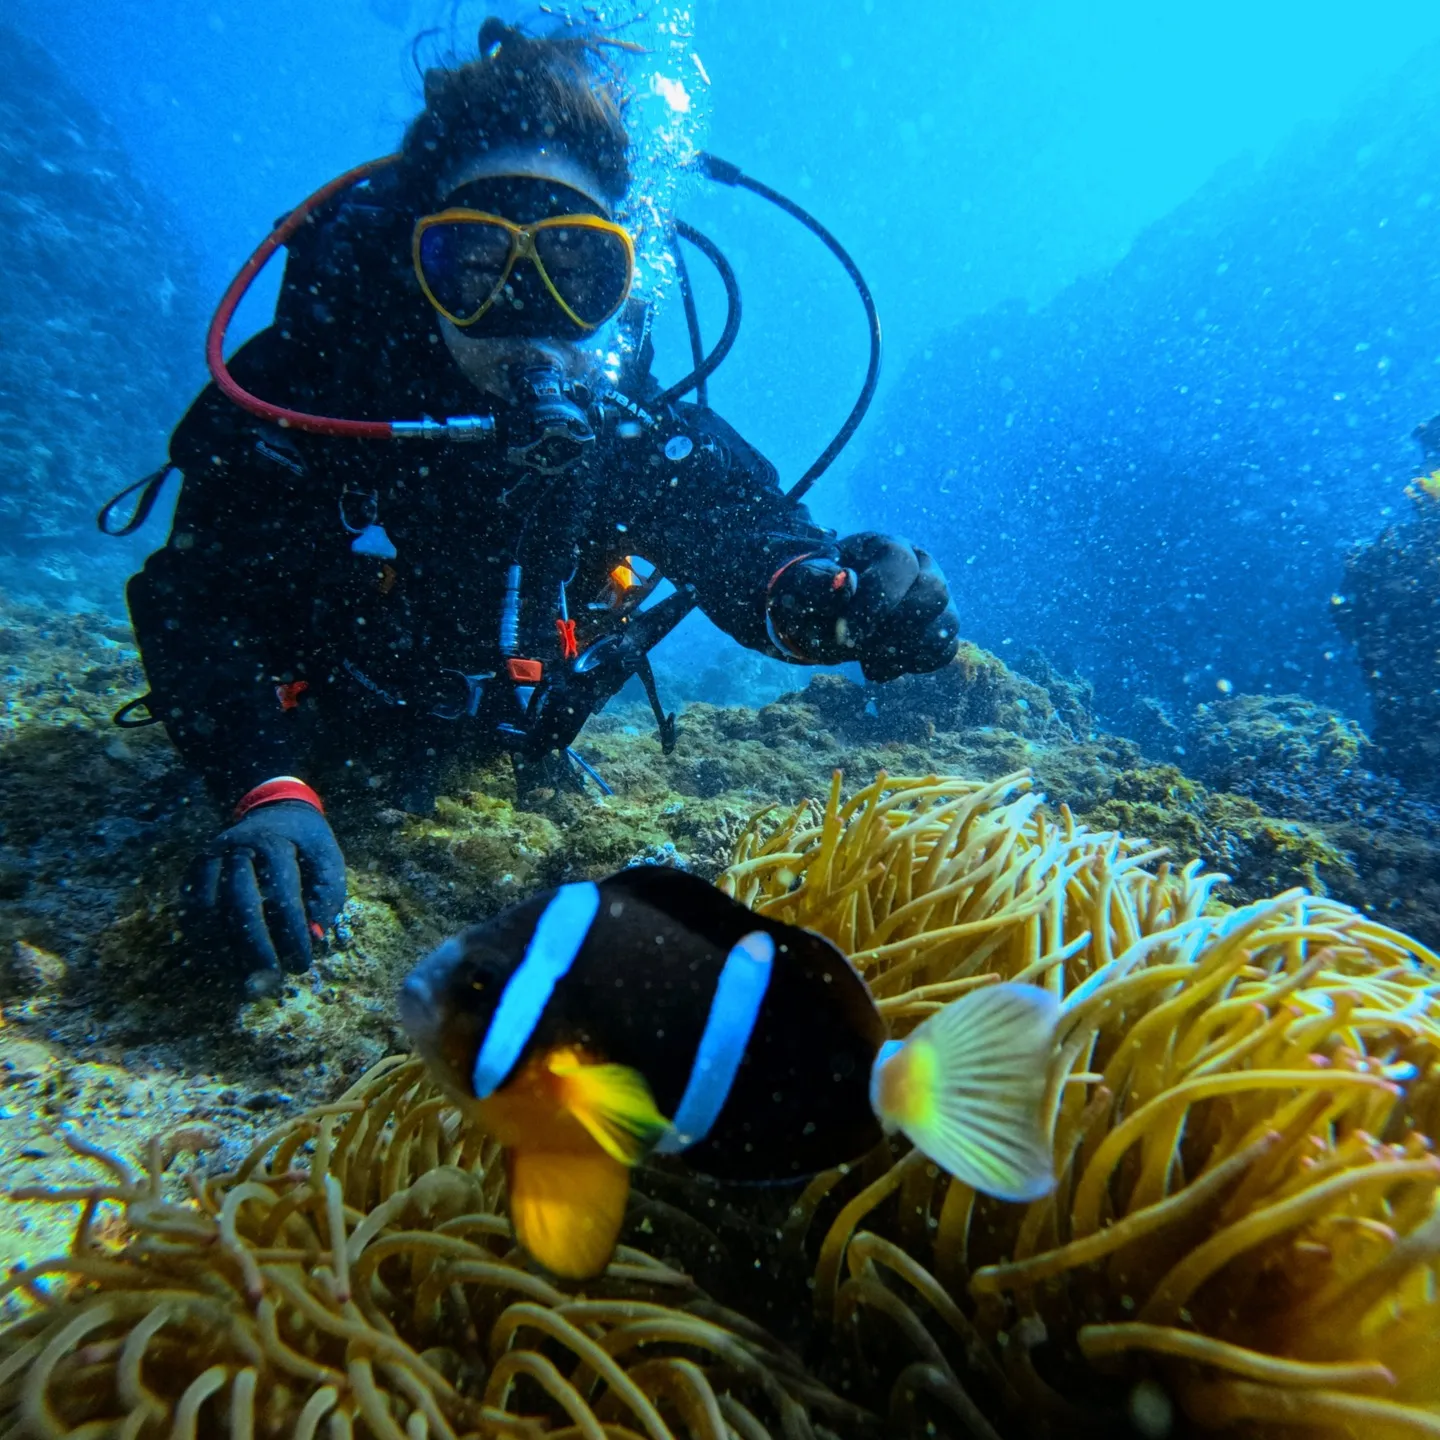
[(940, 567), (909, 540), (873, 530), (840, 541), (840, 559), (785, 566), (770, 585), (770, 638), (796, 660), (858, 660), (865, 680), (922, 674), (955, 655), (960, 618)]

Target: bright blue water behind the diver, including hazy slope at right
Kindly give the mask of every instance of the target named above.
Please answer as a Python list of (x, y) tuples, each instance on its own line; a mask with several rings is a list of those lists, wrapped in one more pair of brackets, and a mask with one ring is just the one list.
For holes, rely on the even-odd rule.
[[(422, 55), (464, 49), (482, 10), (125, 0), (76, 20), (14, 0), (10, 14), (115, 125), (193, 248), (200, 314), (276, 215), (395, 147), (419, 105), (415, 37), (439, 32)], [(1218, 680), (1364, 714), (1325, 603), (1345, 549), (1400, 503), (1410, 428), (1440, 409), (1423, 58), (1440, 9), (700, 0), (658, 14), (710, 81), (693, 86), (698, 140), (829, 225), (880, 307), (878, 399), (812, 497), (819, 518), (929, 544), (968, 634), (1002, 654), (1040, 644), (1116, 717), (1135, 693), (1182, 706)], [(824, 251), (752, 197), (696, 189), (683, 209), (744, 291), (713, 400), (792, 480), (858, 384), (860, 310)], [(276, 278), (233, 340), (266, 323)], [(700, 292), (713, 334), (708, 275)], [(683, 363), (672, 300), (661, 366)], [(180, 405), (125, 418), (157, 461)], [(727, 645), (697, 618), (665, 655), (693, 668)]]

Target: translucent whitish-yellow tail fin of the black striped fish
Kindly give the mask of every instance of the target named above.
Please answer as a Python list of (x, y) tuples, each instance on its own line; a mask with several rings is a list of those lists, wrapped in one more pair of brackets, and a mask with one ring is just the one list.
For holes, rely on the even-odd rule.
[(1045, 1073), (1060, 1002), (1037, 985), (988, 985), (880, 1051), (870, 1102), (958, 1179), (1001, 1200), (1054, 1187)]

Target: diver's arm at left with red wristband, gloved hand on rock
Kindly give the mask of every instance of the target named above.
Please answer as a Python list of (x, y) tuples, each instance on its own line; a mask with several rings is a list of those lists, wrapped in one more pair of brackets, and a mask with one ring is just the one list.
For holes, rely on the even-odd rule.
[(271, 994), (310, 965), (346, 900), (344, 855), (304, 783), (298, 733), (327, 487), (288, 468), (284, 435), (265, 451), (253, 432), (204, 435), (215, 449), (186, 438), (183, 425), (171, 442), (186, 480), (170, 541), (130, 582), (130, 613), (151, 713), (230, 814), (186, 873), (181, 930)]

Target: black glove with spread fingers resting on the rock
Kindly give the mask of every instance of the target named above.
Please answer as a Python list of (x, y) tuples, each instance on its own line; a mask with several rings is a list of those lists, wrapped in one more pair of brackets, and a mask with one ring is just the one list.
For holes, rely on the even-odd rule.
[(196, 858), (180, 891), (186, 939), (233, 959), (252, 994), (310, 969), (311, 942), (346, 903), (346, 860), (305, 801), (252, 809)]

